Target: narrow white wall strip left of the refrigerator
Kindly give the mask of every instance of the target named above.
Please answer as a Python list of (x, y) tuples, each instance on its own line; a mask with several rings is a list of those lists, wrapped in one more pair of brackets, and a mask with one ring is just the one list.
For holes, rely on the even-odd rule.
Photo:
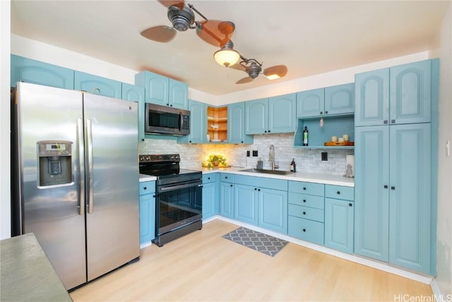
[(11, 237), (10, 36), (11, 1), (0, 1), (0, 239)]

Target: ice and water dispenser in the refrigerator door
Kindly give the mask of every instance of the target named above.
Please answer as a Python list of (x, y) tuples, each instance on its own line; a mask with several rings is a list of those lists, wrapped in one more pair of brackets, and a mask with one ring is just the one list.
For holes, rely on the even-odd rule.
[(39, 187), (64, 185), (72, 180), (72, 141), (38, 141)]

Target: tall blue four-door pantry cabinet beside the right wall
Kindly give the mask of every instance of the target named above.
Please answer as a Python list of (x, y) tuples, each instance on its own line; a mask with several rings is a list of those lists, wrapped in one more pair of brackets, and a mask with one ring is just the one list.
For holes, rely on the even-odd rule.
[(355, 76), (355, 253), (435, 272), (437, 59)]

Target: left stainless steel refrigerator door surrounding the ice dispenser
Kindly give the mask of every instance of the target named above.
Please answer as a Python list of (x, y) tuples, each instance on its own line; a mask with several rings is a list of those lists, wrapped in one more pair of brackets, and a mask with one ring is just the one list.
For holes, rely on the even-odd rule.
[[(16, 106), (18, 116), (13, 120), (18, 131), (12, 135), (17, 136), (18, 144), (13, 150), (18, 158), (13, 168), (19, 173), (17, 179), (11, 180), (18, 182), (15, 185), (18, 198), (13, 200), (20, 205), (20, 217), (16, 218), (20, 219), (22, 233), (35, 233), (64, 286), (71, 289), (86, 282), (85, 216), (83, 207), (79, 207), (83, 201), (80, 194), (83, 156), (79, 156), (83, 144), (78, 144), (79, 138), (83, 142), (83, 127), (78, 127), (78, 120), (81, 122), (83, 117), (82, 94), (18, 83)], [(40, 164), (38, 141), (71, 142), (70, 163), (61, 166), (63, 173), (68, 172), (64, 170), (68, 166), (72, 168), (68, 183), (40, 182), (40, 169), (54, 176), (57, 172), (48, 158), (42, 158)], [(52, 149), (52, 144), (44, 144), (44, 148), (47, 145)]]

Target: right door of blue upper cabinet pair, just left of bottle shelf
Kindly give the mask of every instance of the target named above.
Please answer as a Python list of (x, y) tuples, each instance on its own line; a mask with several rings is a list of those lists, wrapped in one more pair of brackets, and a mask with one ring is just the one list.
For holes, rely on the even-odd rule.
[(297, 95), (290, 93), (268, 98), (268, 132), (295, 132)]

